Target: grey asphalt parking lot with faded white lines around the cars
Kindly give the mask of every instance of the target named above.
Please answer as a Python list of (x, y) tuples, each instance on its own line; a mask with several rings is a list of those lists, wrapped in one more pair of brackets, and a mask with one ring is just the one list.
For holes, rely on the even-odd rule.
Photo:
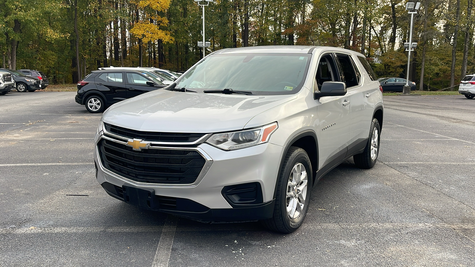
[(385, 96), (379, 162), (313, 190), (304, 225), (203, 224), (95, 181), (100, 114), (75, 92), (0, 96), (0, 266), (475, 266), (475, 99)]

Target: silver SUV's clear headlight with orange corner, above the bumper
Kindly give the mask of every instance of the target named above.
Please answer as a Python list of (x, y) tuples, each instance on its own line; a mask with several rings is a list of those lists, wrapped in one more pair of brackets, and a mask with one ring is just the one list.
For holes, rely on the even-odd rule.
[(274, 133), (276, 129), (277, 123), (272, 123), (250, 130), (213, 134), (208, 138), (208, 140), (206, 140), (206, 143), (223, 150), (235, 150), (260, 143), (267, 143), (270, 135)]

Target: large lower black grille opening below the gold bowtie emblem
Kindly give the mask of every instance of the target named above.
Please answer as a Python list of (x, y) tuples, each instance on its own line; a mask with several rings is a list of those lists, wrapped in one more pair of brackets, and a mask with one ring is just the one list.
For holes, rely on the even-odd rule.
[(107, 170), (144, 183), (191, 184), (206, 163), (194, 150), (134, 151), (132, 147), (105, 139), (97, 145), (101, 162)]

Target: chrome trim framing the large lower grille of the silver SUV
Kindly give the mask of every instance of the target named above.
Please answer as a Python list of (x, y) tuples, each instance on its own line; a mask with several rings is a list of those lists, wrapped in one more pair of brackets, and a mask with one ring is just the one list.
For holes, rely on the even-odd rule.
[(203, 149), (201, 149), (200, 147), (160, 147), (160, 146), (150, 146), (148, 149), (168, 149), (168, 150), (193, 150), (193, 151), (196, 151), (198, 152), (205, 160), (205, 164), (203, 166), (203, 168), (201, 169), (201, 172), (199, 172), (199, 175), (198, 177), (196, 178), (196, 181), (194, 181), (193, 183), (188, 183), (188, 184), (164, 184), (164, 183), (146, 183), (146, 182), (138, 182), (138, 181), (133, 181), (131, 179), (128, 179), (128, 178), (125, 178), (115, 172), (111, 172), (109, 171), (108, 169), (106, 169), (104, 167), (104, 165), (102, 165), (102, 161), (101, 161), (101, 154), (99, 153), (99, 149), (97, 147), (97, 144), (99, 143), (99, 141), (101, 141), (101, 139), (105, 139), (105, 140), (109, 140), (109, 141), (112, 141), (112, 142), (115, 142), (115, 143), (121, 143), (121, 144), (126, 144), (127, 142), (122, 142), (122, 141), (119, 141), (119, 140), (115, 140), (113, 138), (109, 138), (107, 136), (104, 136), (104, 134), (102, 134), (101, 136), (99, 136), (99, 138), (97, 139), (97, 142), (95, 142), (95, 153), (97, 154), (97, 157), (98, 157), (98, 162), (97, 164), (99, 164), (99, 167), (101, 168), (101, 170), (105, 173), (107, 173), (108, 175), (111, 175), (111, 176), (114, 176), (115, 178), (119, 179), (119, 180), (122, 180), (124, 182), (127, 182), (127, 183), (131, 183), (133, 185), (137, 185), (137, 186), (148, 186), (148, 187), (168, 187), (168, 188), (189, 188), (189, 187), (195, 187), (199, 184), (199, 182), (201, 180), (203, 180), (204, 176), (206, 175), (206, 173), (209, 171), (209, 168), (211, 168), (211, 164), (213, 164), (213, 159), (206, 153), (204, 152)]

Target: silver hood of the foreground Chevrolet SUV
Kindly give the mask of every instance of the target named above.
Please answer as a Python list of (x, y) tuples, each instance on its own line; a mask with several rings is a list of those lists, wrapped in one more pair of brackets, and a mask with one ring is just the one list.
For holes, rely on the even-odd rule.
[(103, 121), (151, 132), (234, 131), (243, 129), (257, 114), (294, 98), (296, 95), (224, 95), (159, 89), (112, 105), (104, 112)]

